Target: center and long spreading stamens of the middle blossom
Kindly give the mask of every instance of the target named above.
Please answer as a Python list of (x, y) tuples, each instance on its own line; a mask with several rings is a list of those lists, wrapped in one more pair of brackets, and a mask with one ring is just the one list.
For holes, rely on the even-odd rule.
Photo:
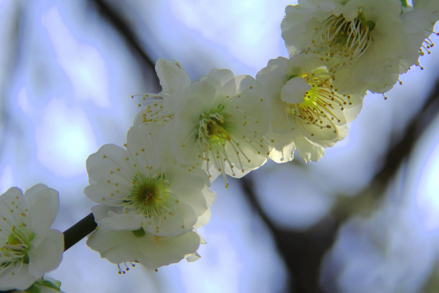
[[(257, 131), (259, 120), (257, 117), (248, 117), (245, 108), (233, 104), (238, 99), (241, 99), (241, 95), (230, 99), (226, 96), (224, 103), (201, 113), (198, 124), (188, 137), (195, 138), (196, 145), (191, 153), (189, 172), (199, 166), (211, 177), (210, 169), (213, 167), (224, 178), (226, 187), (226, 172), (237, 176), (234, 171), (236, 166), (239, 172), (244, 173), (246, 168), (251, 168), (246, 165), (252, 163), (252, 154), (263, 156), (268, 152), (268, 145)], [(185, 144), (182, 148), (185, 148)]]

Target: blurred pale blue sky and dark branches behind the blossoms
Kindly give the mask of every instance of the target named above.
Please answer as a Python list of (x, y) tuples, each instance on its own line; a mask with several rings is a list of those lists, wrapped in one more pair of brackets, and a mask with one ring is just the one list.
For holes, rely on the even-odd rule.
[[(193, 80), (287, 56), (292, 1), (0, 0), (0, 193), (60, 191), (54, 228), (90, 213), (85, 160), (126, 140), (157, 58)], [(436, 28), (436, 32), (438, 28)], [(439, 37), (433, 36), (434, 43)], [(439, 46), (318, 163), (267, 163), (213, 183), (195, 263), (117, 274), (85, 240), (47, 275), (64, 292), (439, 292)]]

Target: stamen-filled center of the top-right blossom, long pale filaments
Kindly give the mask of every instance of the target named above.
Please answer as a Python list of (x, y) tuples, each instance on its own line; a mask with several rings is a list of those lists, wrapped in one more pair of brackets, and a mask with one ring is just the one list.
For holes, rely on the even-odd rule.
[[(346, 20), (342, 15), (332, 15), (322, 27), (316, 28), (320, 32), (320, 40), (313, 40), (313, 48), (308, 47), (306, 52), (332, 57), (357, 60), (372, 43), (372, 30), (375, 23), (365, 21), (361, 14), (353, 21)], [(322, 51), (320, 51), (322, 50)]]

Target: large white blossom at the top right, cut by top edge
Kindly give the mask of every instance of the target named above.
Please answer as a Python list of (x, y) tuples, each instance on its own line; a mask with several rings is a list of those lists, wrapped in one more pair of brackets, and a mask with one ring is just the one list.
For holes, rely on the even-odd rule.
[[(290, 56), (319, 56), (340, 93), (384, 93), (399, 74), (417, 64), (433, 14), (405, 16), (399, 0), (299, 0), (281, 23)], [(426, 13), (425, 13), (426, 14)], [(424, 15), (425, 15), (424, 14)], [(407, 18), (407, 19), (405, 19)], [(407, 26), (406, 23), (416, 23)]]

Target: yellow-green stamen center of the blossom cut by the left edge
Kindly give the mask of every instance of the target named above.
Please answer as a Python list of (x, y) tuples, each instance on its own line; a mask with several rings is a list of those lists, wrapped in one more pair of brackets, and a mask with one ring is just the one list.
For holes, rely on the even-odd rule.
[[(4, 233), (5, 231), (0, 230), (0, 232)], [(6, 238), (5, 244), (0, 248), (0, 272), (16, 263), (29, 263), (27, 253), (34, 237), (35, 233), (29, 232), (25, 223), (11, 226), (10, 234)]]

